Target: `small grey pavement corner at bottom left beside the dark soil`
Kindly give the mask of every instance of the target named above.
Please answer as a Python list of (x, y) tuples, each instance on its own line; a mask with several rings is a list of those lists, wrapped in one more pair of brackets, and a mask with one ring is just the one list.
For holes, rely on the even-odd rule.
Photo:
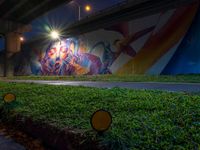
[(25, 148), (0, 133), (0, 150), (25, 150)]

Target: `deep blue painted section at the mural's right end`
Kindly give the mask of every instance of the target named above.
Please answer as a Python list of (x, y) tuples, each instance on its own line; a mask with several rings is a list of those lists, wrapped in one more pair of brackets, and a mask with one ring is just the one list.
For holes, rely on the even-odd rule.
[(200, 73), (200, 9), (188, 33), (162, 74)]

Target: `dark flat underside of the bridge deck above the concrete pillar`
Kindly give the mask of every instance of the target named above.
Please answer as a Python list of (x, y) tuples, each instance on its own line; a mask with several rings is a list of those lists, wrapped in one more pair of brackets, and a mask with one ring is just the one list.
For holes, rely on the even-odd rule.
[(70, 0), (1, 0), (0, 18), (26, 24), (69, 1)]

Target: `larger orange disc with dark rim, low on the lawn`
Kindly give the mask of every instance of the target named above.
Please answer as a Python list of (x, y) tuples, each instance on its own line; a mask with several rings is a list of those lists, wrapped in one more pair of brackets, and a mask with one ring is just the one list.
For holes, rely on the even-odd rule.
[(109, 112), (105, 110), (96, 111), (91, 118), (91, 125), (97, 132), (104, 132), (108, 130), (112, 123), (112, 117)]

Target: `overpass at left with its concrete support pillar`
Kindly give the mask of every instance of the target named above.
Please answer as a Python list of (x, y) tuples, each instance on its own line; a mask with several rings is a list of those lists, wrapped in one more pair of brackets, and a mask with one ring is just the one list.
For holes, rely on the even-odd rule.
[(29, 23), (44, 13), (71, 0), (0, 0), (0, 38), (5, 39), (4, 75), (7, 59), (20, 51), (19, 36), (31, 30)]

